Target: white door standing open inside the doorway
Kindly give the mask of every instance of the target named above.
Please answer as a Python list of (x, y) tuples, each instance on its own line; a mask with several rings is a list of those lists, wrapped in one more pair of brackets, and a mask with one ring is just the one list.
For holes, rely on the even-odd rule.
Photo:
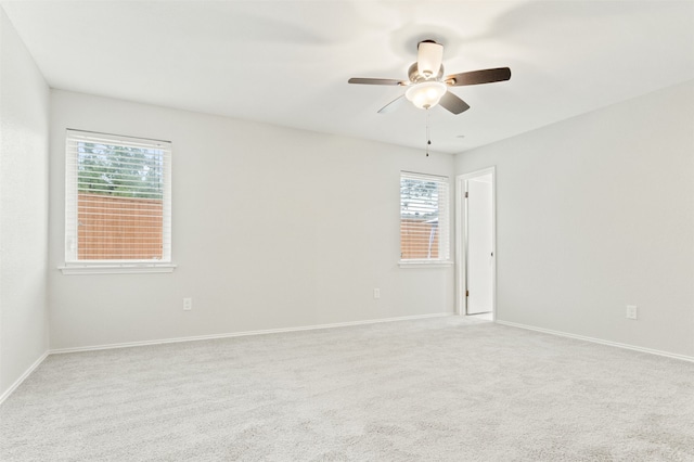
[(467, 180), (467, 315), (491, 312), (493, 239), (491, 174)]

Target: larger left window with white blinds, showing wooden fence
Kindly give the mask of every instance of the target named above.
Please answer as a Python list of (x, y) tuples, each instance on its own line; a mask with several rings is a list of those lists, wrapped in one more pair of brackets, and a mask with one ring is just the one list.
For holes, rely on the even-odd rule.
[(67, 130), (66, 268), (172, 268), (170, 162), (168, 141)]

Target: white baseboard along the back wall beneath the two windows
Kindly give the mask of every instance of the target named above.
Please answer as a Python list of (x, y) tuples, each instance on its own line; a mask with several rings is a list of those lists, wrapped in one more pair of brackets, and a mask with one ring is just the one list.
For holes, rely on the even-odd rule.
[(304, 325), (298, 328), (266, 329), (261, 331), (245, 331), (245, 332), (233, 332), (228, 334), (196, 335), (191, 337), (178, 337), (178, 338), (162, 338), (156, 341), (93, 345), (93, 346), (77, 347), (77, 348), (57, 348), (57, 349), (50, 350), (49, 354), (60, 355), (64, 352), (95, 351), (95, 350), (112, 349), (112, 348), (130, 348), (130, 347), (147, 346), (147, 345), (172, 344), (172, 343), (179, 343), (179, 342), (195, 342), (195, 341), (209, 341), (215, 338), (245, 337), (248, 335), (280, 334), (284, 332), (313, 331), (318, 329), (333, 329), (333, 328), (347, 328), (350, 325), (376, 324), (380, 322), (409, 321), (409, 320), (425, 319), (425, 318), (440, 318), (444, 316), (453, 316), (453, 313), (437, 312), (434, 315), (415, 315), (415, 316), (403, 316), (398, 318), (370, 319), (367, 321), (337, 322), (334, 324), (317, 324), (317, 325)]

